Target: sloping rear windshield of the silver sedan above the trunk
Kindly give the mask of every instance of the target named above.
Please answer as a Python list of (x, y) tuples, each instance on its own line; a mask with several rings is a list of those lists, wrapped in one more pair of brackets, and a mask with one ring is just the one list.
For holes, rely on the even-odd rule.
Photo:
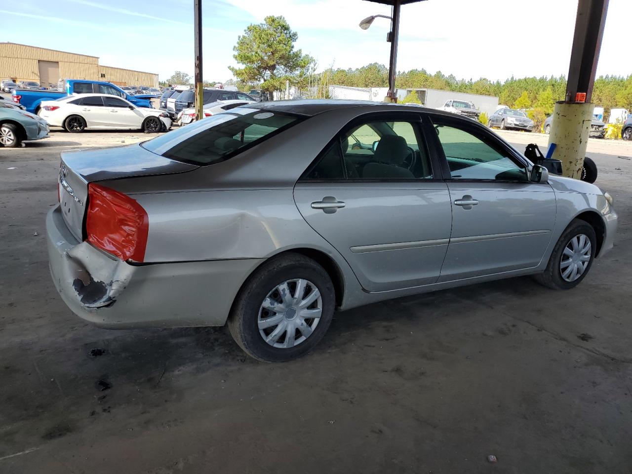
[(302, 119), (282, 112), (243, 107), (170, 131), (141, 146), (178, 161), (214, 164), (228, 159), (237, 150), (263, 142)]

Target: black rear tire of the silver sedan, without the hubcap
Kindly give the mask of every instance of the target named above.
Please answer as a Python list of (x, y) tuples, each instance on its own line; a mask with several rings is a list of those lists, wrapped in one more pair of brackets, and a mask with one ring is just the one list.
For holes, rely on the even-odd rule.
[[(262, 303), (270, 296), (271, 298), (281, 298), (281, 295), (275, 291), (277, 286), (293, 279), (307, 279), (319, 290), (320, 300), (322, 301), (322, 311), (317, 324), (314, 320), (310, 320), (308, 324), (314, 327), (313, 332), (302, 342), (291, 348), (276, 348), (264, 341), (264, 336), (260, 333), (258, 326), (258, 318), (260, 311), (267, 312), (262, 309)], [(295, 288), (289, 288), (290, 293), (296, 291)], [(309, 288), (306, 291), (311, 291)], [(246, 283), (240, 289), (239, 294), (235, 298), (231, 314), (228, 318), (228, 329), (237, 344), (245, 351), (246, 354), (263, 362), (286, 362), (308, 353), (320, 339), (331, 324), (336, 307), (336, 294), (331, 278), (325, 270), (312, 259), (304, 257), (298, 253), (286, 253), (276, 258), (271, 258), (268, 262), (261, 265), (253, 274), (248, 277)], [(308, 306), (309, 308), (309, 306)], [(280, 313), (277, 313), (277, 315)], [(286, 315), (286, 317), (288, 317)], [(282, 319), (286, 322), (285, 319)], [(269, 336), (277, 326), (262, 329), (264, 334)], [(266, 333), (265, 331), (270, 331)], [(295, 333), (302, 332), (295, 329)], [(284, 343), (288, 337), (289, 331), (282, 332), (277, 342)]]

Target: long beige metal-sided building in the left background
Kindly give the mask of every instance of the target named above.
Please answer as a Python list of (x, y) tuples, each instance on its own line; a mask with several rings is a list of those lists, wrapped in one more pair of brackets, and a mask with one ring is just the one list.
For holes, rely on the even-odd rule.
[(158, 75), (154, 73), (102, 66), (96, 56), (16, 43), (0, 43), (2, 79), (37, 81), (42, 85), (57, 85), (59, 79), (88, 79), (119, 86), (158, 87)]

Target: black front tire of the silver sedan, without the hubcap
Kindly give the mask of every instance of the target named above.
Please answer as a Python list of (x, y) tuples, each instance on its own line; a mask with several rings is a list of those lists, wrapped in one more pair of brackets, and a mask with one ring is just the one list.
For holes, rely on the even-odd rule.
[[(588, 240), (590, 240), (590, 260), (588, 261), (588, 265), (586, 265), (586, 269), (576, 280), (566, 281), (562, 277), (562, 270), (560, 269), (561, 260), (564, 256), (564, 249), (566, 248), (566, 245), (569, 245), (571, 239), (580, 234), (584, 234), (588, 237)], [(573, 221), (571, 221), (570, 224), (568, 224), (568, 227), (566, 228), (566, 230), (564, 230), (559, 240), (557, 240), (557, 243), (553, 248), (553, 253), (551, 253), (551, 256), (549, 258), (547, 268), (544, 270), (543, 273), (534, 276), (535, 281), (552, 289), (574, 288), (581, 283), (581, 281), (590, 271), (593, 260), (595, 260), (596, 250), (597, 238), (595, 237), (595, 229), (593, 229), (592, 226), (586, 221), (574, 219)]]

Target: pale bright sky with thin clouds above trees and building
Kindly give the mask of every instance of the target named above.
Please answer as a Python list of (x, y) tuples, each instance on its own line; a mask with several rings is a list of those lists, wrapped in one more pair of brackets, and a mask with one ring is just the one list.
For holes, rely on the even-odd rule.
[[(629, 1), (610, 0), (597, 75), (632, 74)], [(251, 23), (283, 15), (319, 70), (388, 64), (391, 9), (365, 0), (204, 0), (205, 80), (228, 80)], [(577, 0), (427, 0), (401, 8), (399, 71), (504, 80), (568, 74)], [(99, 63), (193, 75), (193, 0), (29, 0), (0, 4), (0, 41), (99, 56)], [(626, 46), (626, 42), (627, 45)]]

